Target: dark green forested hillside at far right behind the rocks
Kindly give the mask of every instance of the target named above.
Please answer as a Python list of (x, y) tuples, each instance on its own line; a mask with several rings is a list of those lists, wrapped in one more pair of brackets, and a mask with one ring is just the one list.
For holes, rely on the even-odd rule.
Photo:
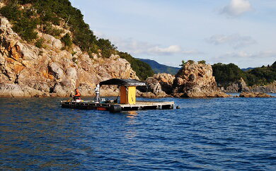
[(263, 86), (276, 80), (276, 61), (270, 66), (242, 71), (235, 64), (217, 63), (212, 65), (213, 76), (219, 86), (229, 86), (229, 84), (243, 78), (248, 86)]

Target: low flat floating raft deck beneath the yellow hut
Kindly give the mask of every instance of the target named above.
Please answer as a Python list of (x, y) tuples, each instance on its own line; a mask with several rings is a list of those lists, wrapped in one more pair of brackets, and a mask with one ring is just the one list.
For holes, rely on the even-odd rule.
[(121, 112), (130, 110), (169, 110), (173, 109), (174, 102), (153, 102), (153, 101), (136, 101), (134, 105), (118, 104), (94, 101), (61, 101), (64, 108), (80, 110), (108, 110), (110, 112)]

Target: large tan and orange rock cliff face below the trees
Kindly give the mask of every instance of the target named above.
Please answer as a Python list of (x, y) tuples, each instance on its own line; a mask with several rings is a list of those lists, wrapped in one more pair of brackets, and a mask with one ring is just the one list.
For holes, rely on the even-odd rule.
[[(96, 83), (110, 78), (135, 78), (130, 64), (117, 55), (98, 57), (81, 52), (72, 45), (62, 50), (62, 42), (51, 35), (39, 33), (45, 48), (30, 45), (0, 18), (0, 96), (69, 96), (79, 87), (82, 95), (94, 95)], [(105, 86), (102, 95), (117, 95), (117, 89)]]

